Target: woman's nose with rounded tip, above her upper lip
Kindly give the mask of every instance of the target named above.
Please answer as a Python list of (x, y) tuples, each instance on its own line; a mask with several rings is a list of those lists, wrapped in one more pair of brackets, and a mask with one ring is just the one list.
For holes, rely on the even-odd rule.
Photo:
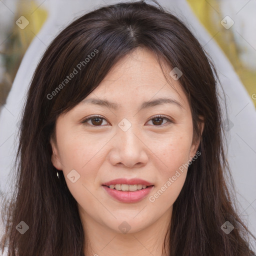
[(148, 161), (147, 150), (146, 141), (137, 129), (133, 129), (133, 125), (126, 131), (118, 128), (111, 141), (109, 161), (112, 165), (140, 167)]

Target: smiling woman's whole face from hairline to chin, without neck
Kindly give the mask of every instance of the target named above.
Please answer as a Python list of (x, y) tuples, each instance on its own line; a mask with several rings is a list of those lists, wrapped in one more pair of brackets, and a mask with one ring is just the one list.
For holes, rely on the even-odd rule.
[[(57, 118), (52, 163), (63, 171), (83, 223), (120, 233), (170, 219), (198, 145), (187, 98), (170, 80), (172, 87), (152, 53), (137, 48), (86, 101)], [(150, 186), (141, 189), (144, 182)]]

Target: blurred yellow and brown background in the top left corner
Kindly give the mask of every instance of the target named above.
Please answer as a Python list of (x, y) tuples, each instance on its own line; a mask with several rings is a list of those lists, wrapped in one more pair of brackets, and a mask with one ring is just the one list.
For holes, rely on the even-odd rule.
[[(6, 101), (28, 45), (47, 18), (47, 6), (39, 6), (41, 3), (39, 0), (0, 0), (0, 105)], [(29, 20), (23, 29), (15, 23), (21, 13)]]

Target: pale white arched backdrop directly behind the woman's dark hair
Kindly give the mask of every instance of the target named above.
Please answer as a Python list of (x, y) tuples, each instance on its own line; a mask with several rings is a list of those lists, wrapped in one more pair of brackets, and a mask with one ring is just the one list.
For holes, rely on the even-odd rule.
[[(107, 0), (106, 2), (111, 4), (117, 1)], [(232, 126), (227, 134), (228, 160), (237, 190), (240, 215), (256, 235), (256, 111), (252, 99), (228, 59), (200, 24), (187, 2), (185, 0), (158, 0), (158, 2), (189, 26), (217, 67), (220, 82), (227, 97), (228, 118)], [(7, 189), (8, 174), (17, 148), (16, 123), (20, 119), (24, 96), (42, 53), (56, 33), (66, 24), (76, 16), (93, 10), (99, 5), (105, 5), (105, 2), (102, 0), (48, 0), (43, 3), (49, 11), (48, 18), (27, 49), (6, 104), (0, 112), (0, 189), (2, 192)], [(231, 14), (227, 10), (223, 17)], [(235, 17), (232, 18), (235, 26)]]

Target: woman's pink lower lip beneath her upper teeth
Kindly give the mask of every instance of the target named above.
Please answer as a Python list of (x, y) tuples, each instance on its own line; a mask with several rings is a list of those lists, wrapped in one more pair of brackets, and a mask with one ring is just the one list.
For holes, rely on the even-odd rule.
[(143, 198), (145, 198), (153, 187), (152, 185), (136, 191), (122, 191), (122, 190), (111, 189), (105, 185), (102, 185), (102, 186), (104, 187), (104, 189), (109, 195), (111, 195), (113, 198), (121, 202), (138, 202)]

